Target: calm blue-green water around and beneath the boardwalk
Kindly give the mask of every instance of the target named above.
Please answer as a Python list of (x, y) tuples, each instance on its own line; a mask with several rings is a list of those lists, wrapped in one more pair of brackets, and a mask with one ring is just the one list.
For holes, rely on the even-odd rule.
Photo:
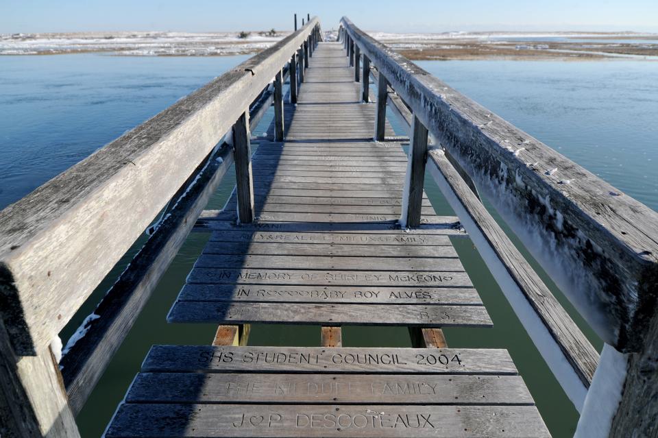
[[(88, 156), (244, 57), (121, 58), (99, 54), (0, 57), (0, 208)], [(658, 209), (658, 62), (420, 62), (480, 104)], [(221, 208), (231, 175), (208, 208)], [(431, 181), (440, 214), (451, 214)], [(210, 343), (215, 326), (168, 325), (164, 317), (207, 236), (193, 234), (155, 291), (78, 417), (98, 437), (154, 343)], [(446, 330), (453, 347), (507, 348), (553, 436), (571, 436), (577, 414), (552, 378), (472, 244), (457, 239), (492, 329)], [(91, 313), (115, 267), (62, 332)], [(568, 302), (559, 299), (570, 309)], [(600, 346), (591, 332), (592, 341)], [(406, 329), (345, 328), (345, 346), (409, 346)], [(252, 326), (252, 345), (317, 345), (319, 328)]]

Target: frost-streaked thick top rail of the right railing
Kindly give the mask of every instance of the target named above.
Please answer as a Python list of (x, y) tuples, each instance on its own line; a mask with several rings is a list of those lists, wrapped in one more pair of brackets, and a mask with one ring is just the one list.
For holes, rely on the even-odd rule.
[(599, 336), (639, 350), (658, 296), (645, 281), (658, 272), (658, 213), (341, 22)]

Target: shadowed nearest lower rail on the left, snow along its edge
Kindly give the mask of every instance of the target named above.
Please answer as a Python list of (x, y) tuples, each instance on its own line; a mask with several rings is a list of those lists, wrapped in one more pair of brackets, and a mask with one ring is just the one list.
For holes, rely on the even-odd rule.
[(180, 197), (174, 200), (175, 206), (164, 216), (166, 219), (158, 224), (156, 231), (103, 296), (94, 310), (98, 318), (86, 324), (86, 335), (62, 357), (62, 376), (74, 413), (82, 409), (162, 274), (178, 254), (208, 199), (230, 169), (232, 151), (223, 147), (206, 162), (207, 165), (202, 165), (193, 175), (195, 183), (190, 186), (190, 180), (184, 184)]

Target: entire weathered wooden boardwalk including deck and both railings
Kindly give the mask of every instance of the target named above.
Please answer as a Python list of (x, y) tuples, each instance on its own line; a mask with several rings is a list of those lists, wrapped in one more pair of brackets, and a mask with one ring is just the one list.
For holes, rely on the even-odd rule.
[[(250, 132), (272, 105), (252, 156)], [(395, 135), (387, 108), (409, 136)], [(204, 210), (232, 165), (226, 207)], [(436, 215), (426, 169), (459, 217)], [(544, 253), (539, 263), (606, 341), (601, 357), (480, 192)], [(149, 226), (53, 363), (53, 336)], [(576, 435), (657, 427), (647, 419), (658, 383), (646, 376), (658, 339), (656, 213), (346, 18), (339, 40), (325, 41), (308, 17), (3, 210), (0, 230), (0, 432), (11, 437), (79, 436), (75, 414), (193, 230), (210, 239), (167, 320), (215, 323), (215, 339), (154, 345), (108, 438), (550, 436), (507, 350), (443, 337), (496, 323), (451, 239), (472, 239), (483, 256), (581, 412)], [(250, 323), (321, 326), (319, 345), (249, 346)], [(408, 327), (412, 346), (343, 348), (341, 326), (353, 325)]]

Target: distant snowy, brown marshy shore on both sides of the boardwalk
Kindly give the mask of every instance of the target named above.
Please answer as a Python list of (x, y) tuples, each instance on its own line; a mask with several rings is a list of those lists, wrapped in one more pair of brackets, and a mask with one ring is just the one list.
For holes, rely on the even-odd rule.
[[(256, 53), (290, 32), (77, 32), (0, 34), (0, 55), (108, 52), (120, 56)], [(370, 32), (412, 60), (658, 60), (658, 34), (635, 32)], [(326, 33), (334, 39), (335, 31)]]

